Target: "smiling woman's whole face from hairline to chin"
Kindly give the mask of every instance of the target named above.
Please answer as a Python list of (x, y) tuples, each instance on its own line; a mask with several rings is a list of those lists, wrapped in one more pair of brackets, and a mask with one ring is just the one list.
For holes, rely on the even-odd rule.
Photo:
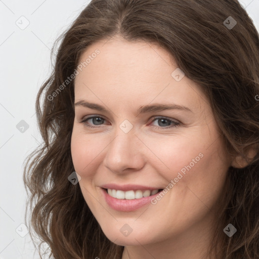
[(145, 42), (99, 41), (87, 59), (75, 78), (71, 153), (105, 235), (144, 245), (206, 232), (231, 161), (199, 86)]

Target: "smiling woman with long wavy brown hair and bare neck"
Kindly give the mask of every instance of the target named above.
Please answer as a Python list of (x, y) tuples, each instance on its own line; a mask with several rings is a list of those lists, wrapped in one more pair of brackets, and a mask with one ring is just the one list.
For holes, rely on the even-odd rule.
[(259, 37), (240, 4), (93, 0), (61, 40), (24, 171), (51, 254), (258, 258)]

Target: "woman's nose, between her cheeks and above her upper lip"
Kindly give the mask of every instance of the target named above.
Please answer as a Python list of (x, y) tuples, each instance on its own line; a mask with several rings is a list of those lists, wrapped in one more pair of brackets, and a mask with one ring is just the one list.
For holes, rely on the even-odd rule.
[(103, 163), (116, 174), (141, 170), (145, 164), (142, 146), (143, 143), (133, 130), (124, 133), (118, 128), (113, 141), (107, 147)]

